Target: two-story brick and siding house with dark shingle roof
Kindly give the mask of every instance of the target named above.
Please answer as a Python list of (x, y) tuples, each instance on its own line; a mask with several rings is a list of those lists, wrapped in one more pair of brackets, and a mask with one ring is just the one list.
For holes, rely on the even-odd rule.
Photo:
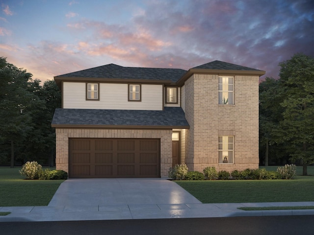
[(70, 178), (167, 177), (174, 164), (259, 166), (259, 77), (213, 61), (188, 71), (114, 64), (55, 76), (56, 168)]

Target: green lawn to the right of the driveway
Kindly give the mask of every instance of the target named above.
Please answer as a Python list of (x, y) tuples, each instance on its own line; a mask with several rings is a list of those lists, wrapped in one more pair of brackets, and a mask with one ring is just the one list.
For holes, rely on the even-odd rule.
[[(298, 167), (297, 174), (302, 174)], [(271, 170), (276, 170), (277, 167)], [(175, 181), (203, 203), (306, 202), (314, 201), (314, 166), (312, 176), (293, 180), (213, 180)]]

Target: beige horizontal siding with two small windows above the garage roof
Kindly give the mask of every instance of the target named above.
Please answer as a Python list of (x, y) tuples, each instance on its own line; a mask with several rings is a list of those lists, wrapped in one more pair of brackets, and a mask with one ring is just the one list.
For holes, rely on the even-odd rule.
[(141, 85), (141, 102), (128, 101), (128, 84), (101, 83), (100, 100), (86, 100), (86, 84), (63, 83), (65, 109), (162, 110), (162, 85)]

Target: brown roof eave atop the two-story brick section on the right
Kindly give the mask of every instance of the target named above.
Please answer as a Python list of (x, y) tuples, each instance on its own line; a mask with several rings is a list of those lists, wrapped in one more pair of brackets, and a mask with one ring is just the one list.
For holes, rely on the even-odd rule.
[(189, 69), (177, 82), (178, 86), (183, 86), (184, 82), (193, 74), (214, 74), (214, 75), (252, 75), (262, 76), (266, 72), (259, 71), (246, 71), (246, 70), (208, 70), (208, 69)]

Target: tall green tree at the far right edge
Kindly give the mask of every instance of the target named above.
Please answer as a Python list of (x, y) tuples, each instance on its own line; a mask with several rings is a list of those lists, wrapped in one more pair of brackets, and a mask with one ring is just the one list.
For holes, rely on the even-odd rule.
[(295, 54), (280, 66), (284, 111), (279, 131), (292, 160), (300, 161), (307, 175), (307, 165), (314, 164), (314, 58)]

